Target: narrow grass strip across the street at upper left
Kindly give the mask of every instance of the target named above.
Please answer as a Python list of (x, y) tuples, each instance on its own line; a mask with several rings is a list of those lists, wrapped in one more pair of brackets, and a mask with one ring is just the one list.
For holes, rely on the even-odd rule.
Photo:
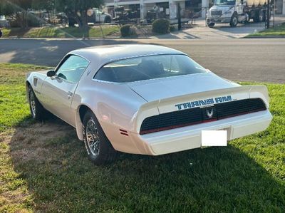
[(17, 36), (26, 38), (102, 38), (119, 33), (118, 26), (99, 26), (82, 29), (78, 27), (39, 27), (39, 28), (4, 28), (4, 37)]

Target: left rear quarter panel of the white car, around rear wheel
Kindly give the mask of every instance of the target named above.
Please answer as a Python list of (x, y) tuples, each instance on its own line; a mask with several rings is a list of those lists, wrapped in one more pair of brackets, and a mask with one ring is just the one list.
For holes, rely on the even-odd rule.
[[(81, 105), (86, 105), (95, 114), (115, 150), (139, 153), (129, 134), (135, 131), (135, 115), (146, 101), (126, 84), (105, 83), (93, 80), (92, 77), (88, 72), (84, 73), (71, 104), (76, 110), (76, 130), (79, 139), (83, 140), (83, 124), (79, 109)], [(127, 135), (121, 134), (120, 130), (127, 131)]]

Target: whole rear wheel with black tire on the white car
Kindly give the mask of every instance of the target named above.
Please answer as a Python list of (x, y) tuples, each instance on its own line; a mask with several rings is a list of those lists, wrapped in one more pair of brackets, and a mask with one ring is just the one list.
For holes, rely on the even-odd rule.
[(90, 110), (86, 112), (83, 118), (83, 139), (87, 155), (95, 165), (102, 165), (115, 160), (117, 152)]

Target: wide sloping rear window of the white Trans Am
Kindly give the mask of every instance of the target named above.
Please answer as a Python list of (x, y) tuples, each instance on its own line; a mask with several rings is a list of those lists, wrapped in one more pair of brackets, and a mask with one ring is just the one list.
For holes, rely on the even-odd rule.
[(183, 76), (206, 72), (202, 66), (185, 55), (159, 55), (128, 58), (108, 63), (94, 78), (116, 83)]

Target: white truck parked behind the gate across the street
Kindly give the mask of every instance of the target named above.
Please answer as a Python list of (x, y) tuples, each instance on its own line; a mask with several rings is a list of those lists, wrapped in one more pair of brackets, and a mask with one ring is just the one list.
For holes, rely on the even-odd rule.
[(229, 24), (234, 27), (251, 19), (254, 22), (266, 21), (267, 5), (267, 0), (215, 0), (214, 6), (207, 12), (207, 25)]

